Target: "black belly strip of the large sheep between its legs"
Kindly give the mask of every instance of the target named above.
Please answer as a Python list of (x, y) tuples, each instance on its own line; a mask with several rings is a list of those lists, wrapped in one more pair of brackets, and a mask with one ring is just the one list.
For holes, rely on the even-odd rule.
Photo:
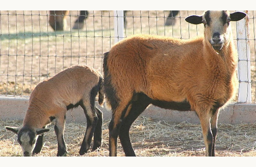
[(189, 102), (165, 102), (165, 101), (158, 101), (152, 100), (151, 102), (153, 105), (164, 108), (164, 109), (171, 109), (171, 110), (179, 110), (179, 111), (189, 111), (191, 110), (191, 106)]

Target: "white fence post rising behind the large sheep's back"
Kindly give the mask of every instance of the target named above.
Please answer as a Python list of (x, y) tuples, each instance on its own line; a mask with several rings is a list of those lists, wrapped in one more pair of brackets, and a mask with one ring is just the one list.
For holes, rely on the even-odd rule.
[(124, 38), (124, 11), (114, 11), (115, 43)]

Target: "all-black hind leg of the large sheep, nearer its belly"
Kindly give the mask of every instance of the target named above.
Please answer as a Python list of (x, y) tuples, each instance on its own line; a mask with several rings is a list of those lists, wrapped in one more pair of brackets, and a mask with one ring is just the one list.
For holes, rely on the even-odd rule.
[(142, 95), (135, 95), (133, 97), (135, 101), (132, 101), (131, 108), (127, 110), (128, 115), (124, 118), (122, 122), (122, 126), (120, 128), (119, 139), (124, 149), (125, 156), (136, 156), (134, 150), (132, 148), (129, 130), (132, 123), (135, 121), (136, 118), (148, 107), (150, 104), (150, 99), (142, 94)]

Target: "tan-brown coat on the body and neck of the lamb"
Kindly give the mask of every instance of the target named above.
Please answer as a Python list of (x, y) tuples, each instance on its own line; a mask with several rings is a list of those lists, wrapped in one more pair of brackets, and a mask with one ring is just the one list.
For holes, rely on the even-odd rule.
[[(23, 126), (42, 128), (51, 116), (62, 115), (64, 118), (69, 104), (90, 99), (90, 91), (98, 84), (100, 76), (89, 66), (77, 65), (39, 83), (30, 95)], [(90, 106), (89, 102), (86, 105)]]

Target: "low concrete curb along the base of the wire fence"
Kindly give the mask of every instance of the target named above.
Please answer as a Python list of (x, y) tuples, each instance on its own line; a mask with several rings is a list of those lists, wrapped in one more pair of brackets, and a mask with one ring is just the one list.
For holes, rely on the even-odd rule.
[[(7, 97), (0, 96), (0, 119), (19, 119), (23, 120), (28, 108), (28, 97)], [(98, 104), (98, 102), (96, 102)], [(106, 110), (98, 105), (98, 108), (103, 112), (104, 119), (111, 119), (111, 111)], [(149, 106), (142, 116), (151, 117), (156, 120), (166, 120), (175, 123), (187, 121), (193, 124), (200, 124), (199, 118), (194, 111), (176, 111), (166, 110), (156, 106)], [(73, 117), (74, 118), (73, 118)], [(67, 111), (66, 122), (86, 121), (85, 115), (81, 107)], [(225, 124), (246, 124), (256, 123), (256, 104), (237, 104), (231, 103), (225, 109), (222, 109), (219, 114), (218, 123)]]

